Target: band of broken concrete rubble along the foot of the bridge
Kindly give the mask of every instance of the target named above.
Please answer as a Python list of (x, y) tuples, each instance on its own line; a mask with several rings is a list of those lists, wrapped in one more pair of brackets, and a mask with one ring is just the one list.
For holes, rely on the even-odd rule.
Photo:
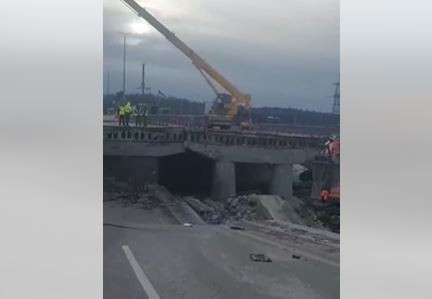
[(239, 229), (243, 221), (274, 221), (339, 232), (339, 206), (305, 198), (276, 195), (240, 195), (224, 202), (210, 198), (174, 196), (160, 185), (133, 186), (104, 179), (104, 202), (152, 210), (163, 208), (179, 224), (224, 224)]

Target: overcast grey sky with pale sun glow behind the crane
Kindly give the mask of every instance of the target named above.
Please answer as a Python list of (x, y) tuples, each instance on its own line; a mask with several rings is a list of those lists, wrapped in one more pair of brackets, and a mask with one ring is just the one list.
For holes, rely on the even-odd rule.
[[(252, 95), (252, 105), (331, 111), (339, 76), (339, 0), (137, 0), (208, 63)], [(139, 92), (141, 64), (153, 93), (196, 101), (215, 95), (190, 60), (121, 0), (104, 0), (104, 92)]]

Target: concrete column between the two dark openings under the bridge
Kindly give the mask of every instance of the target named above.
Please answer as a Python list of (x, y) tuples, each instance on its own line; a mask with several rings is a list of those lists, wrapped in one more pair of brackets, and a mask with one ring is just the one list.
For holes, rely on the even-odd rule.
[(235, 196), (235, 185), (234, 162), (216, 160), (213, 167), (212, 198), (224, 200)]

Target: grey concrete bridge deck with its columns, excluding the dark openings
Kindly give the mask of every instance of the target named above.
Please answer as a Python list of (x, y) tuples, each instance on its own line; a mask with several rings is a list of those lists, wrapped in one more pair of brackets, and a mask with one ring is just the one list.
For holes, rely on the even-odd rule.
[[(103, 141), (105, 157), (133, 158), (130, 162), (123, 159), (122, 163), (132, 163), (130, 169), (137, 165), (140, 169), (153, 169), (150, 173), (154, 181), (157, 181), (160, 158), (192, 151), (211, 159), (214, 164), (212, 196), (218, 199), (236, 194), (237, 163), (268, 165), (269, 192), (290, 197), (292, 165), (312, 159), (323, 144), (322, 138), (293, 134), (116, 125), (104, 126)], [(257, 171), (264, 170), (257, 168)]]

